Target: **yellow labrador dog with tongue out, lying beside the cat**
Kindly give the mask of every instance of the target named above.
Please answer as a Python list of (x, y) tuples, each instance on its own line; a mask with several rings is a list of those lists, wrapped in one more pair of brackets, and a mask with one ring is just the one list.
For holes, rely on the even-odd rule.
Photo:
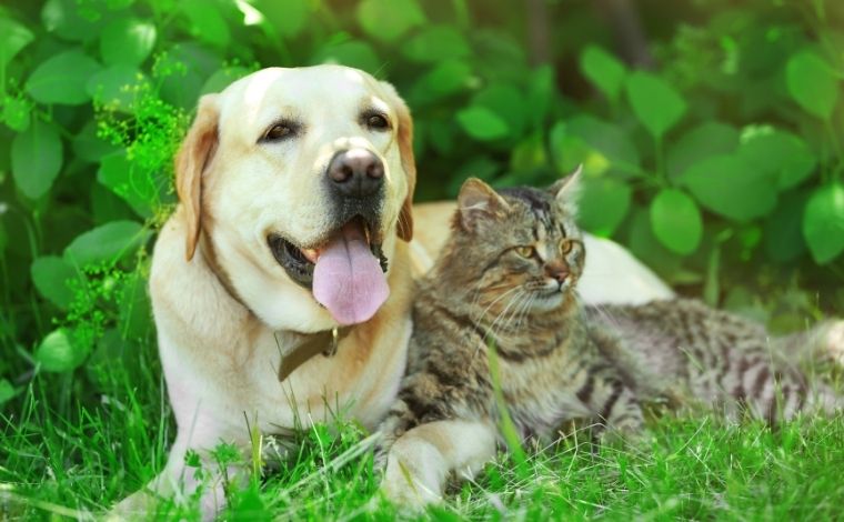
[[(245, 452), (248, 423), (278, 433), (330, 420), (330, 405), (374, 429), (404, 370), (414, 267), (431, 264), (452, 210), (413, 215), (408, 108), (339, 66), (264, 69), (203, 97), (175, 164), (180, 204), (150, 292), (178, 434), (123, 514), (150, 493), (190, 493), (185, 452)], [(603, 265), (581, 284), (586, 301), (670, 295), (613, 243), (589, 248)], [(210, 488), (203, 513), (223, 501)]]

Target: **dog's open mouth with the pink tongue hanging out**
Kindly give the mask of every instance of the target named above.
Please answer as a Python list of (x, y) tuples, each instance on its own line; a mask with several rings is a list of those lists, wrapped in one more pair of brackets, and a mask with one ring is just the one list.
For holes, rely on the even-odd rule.
[(313, 248), (299, 248), (279, 234), (267, 242), (288, 275), (312, 290), (340, 324), (355, 324), (372, 318), (390, 293), (382, 238), (372, 230), (355, 218)]

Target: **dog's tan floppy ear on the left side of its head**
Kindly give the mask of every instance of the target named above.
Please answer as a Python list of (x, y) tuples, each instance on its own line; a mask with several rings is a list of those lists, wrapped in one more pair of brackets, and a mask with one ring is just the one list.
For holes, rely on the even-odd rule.
[(217, 94), (200, 98), (197, 118), (175, 155), (175, 191), (188, 220), (188, 261), (193, 259), (202, 230), (202, 173), (217, 150), (219, 118)]

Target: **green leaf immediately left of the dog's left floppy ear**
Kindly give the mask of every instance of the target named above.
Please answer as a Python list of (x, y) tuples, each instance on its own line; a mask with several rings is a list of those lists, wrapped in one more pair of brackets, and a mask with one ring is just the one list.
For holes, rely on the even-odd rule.
[(152, 217), (159, 195), (155, 181), (143, 169), (135, 168), (123, 151), (102, 159), (97, 181), (129, 203), (140, 217)]

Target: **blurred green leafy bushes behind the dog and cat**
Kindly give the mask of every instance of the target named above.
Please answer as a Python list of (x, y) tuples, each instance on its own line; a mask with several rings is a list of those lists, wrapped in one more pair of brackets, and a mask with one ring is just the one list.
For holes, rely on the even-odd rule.
[[(0, 6), (0, 375), (153, 342), (144, 275), (172, 154), (199, 94), (267, 66), (393, 82), (415, 118), (418, 200), (583, 163), (583, 225), (670, 282), (743, 307), (747, 281), (796, 280), (844, 309), (844, 3), (642, 0), (645, 68), (613, 51), (613, 3)], [(0, 402), (14, 390), (0, 380)]]

